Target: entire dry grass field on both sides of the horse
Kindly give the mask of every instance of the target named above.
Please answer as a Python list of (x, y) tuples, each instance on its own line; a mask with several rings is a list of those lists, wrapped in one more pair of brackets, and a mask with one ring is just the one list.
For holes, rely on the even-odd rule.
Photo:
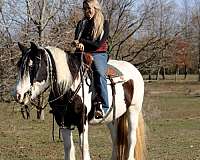
[[(20, 106), (0, 103), (0, 160), (62, 160), (63, 145), (52, 116), (46, 109), (45, 121), (24, 120)], [(143, 113), (146, 122), (148, 160), (200, 160), (200, 83), (195, 81), (154, 81), (145, 83)], [(78, 148), (78, 135), (74, 130)], [(93, 160), (109, 160), (111, 140), (105, 126), (90, 127)]]

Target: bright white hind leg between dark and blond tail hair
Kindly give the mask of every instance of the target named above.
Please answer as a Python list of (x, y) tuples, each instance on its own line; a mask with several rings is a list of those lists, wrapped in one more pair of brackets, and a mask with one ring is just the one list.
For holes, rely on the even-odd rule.
[(138, 127), (138, 117), (139, 112), (137, 110), (131, 109), (130, 106), (128, 111), (128, 160), (135, 160), (135, 146), (137, 142), (136, 130)]

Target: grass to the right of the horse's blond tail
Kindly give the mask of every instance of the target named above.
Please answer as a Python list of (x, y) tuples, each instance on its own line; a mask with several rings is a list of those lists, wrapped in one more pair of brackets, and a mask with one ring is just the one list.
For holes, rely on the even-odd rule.
[(146, 84), (144, 113), (150, 160), (200, 159), (200, 84)]

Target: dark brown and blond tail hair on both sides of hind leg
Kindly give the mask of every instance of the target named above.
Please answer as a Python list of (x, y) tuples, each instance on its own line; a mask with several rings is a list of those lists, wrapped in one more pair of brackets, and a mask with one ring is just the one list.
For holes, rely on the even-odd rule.
[[(119, 118), (117, 126), (117, 160), (128, 158), (128, 119), (127, 113)], [(139, 115), (136, 130), (135, 160), (144, 160), (146, 156), (144, 139), (144, 120), (142, 113)]]

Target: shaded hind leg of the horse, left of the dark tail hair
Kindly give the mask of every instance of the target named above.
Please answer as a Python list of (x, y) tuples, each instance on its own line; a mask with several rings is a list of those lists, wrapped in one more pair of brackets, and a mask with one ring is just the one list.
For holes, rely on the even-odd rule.
[[(116, 121), (116, 120), (115, 120)], [(110, 130), (110, 135), (112, 138), (112, 160), (117, 159), (117, 122), (108, 123), (108, 128)]]

